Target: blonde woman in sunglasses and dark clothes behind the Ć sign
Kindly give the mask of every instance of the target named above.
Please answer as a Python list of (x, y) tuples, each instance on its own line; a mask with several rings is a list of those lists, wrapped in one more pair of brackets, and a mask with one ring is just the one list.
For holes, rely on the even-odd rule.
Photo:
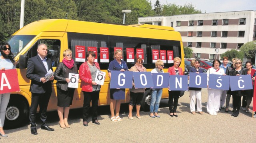
[[(232, 70), (232, 74), (230, 76), (240, 76), (240, 75), (246, 75), (247, 70), (242, 67), (242, 60), (241, 59), (236, 59), (235, 63), (233, 64), (233, 67), (235, 69)], [(241, 96), (242, 90), (236, 90), (232, 91), (232, 96), (233, 96), (233, 114), (231, 116), (237, 117), (239, 115), (239, 110), (241, 107)]]

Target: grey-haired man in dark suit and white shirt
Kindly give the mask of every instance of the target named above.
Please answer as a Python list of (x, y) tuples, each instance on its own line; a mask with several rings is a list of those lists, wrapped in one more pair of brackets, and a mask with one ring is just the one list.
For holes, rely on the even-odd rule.
[(46, 124), (46, 110), (50, 96), (52, 93), (52, 76), (48, 81), (45, 79), (45, 75), (49, 70), (52, 70), (52, 62), (46, 57), (47, 45), (41, 43), (38, 45), (38, 55), (28, 59), (28, 68), (26, 76), (31, 80), (30, 92), (32, 93), (31, 106), (29, 111), (30, 129), (33, 135), (37, 135), (36, 131), (36, 110), (39, 104), (40, 107), (40, 119), (43, 122), (41, 129), (47, 131), (54, 131)]

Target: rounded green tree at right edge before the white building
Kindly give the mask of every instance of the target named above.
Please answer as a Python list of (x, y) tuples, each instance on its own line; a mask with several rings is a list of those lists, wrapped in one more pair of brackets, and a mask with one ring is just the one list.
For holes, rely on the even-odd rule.
[(244, 53), (244, 56), (249, 59), (255, 58), (256, 41), (247, 42), (240, 48), (240, 51)]

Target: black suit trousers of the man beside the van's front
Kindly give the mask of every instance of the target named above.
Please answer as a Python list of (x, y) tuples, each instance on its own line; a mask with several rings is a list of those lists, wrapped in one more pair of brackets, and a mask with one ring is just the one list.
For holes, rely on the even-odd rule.
[(47, 111), (47, 106), (48, 102), (50, 100), (51, 92), (46, 92), (43, 94), (38, 94), (38, 93), (32, 93), (32, 99), (31, 99), (31, 106), (29, 110), (29, 120), (30, 120), (30, 128), (36, 128), (36, 110), (38, 108), (39, 104), (39, 114), (40, 114), (40, 119), (42, 121), (42, 125), (46, 125), (46, 111)]

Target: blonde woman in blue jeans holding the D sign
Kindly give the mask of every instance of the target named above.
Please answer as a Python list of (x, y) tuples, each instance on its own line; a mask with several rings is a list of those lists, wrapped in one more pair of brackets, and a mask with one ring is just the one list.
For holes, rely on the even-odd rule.
[[(151, 73), (162, 73), (164, 72), (164, 63), (162, 60), (158, 59), (155, 63), (156, 68), (151, 71)], [(163, 88), (153, 88), (151, 90), (151, 101), (150, 101), (150, 117), (151, 118), (160, 118), (157, 114), (160, 100), (162, 98)]]

